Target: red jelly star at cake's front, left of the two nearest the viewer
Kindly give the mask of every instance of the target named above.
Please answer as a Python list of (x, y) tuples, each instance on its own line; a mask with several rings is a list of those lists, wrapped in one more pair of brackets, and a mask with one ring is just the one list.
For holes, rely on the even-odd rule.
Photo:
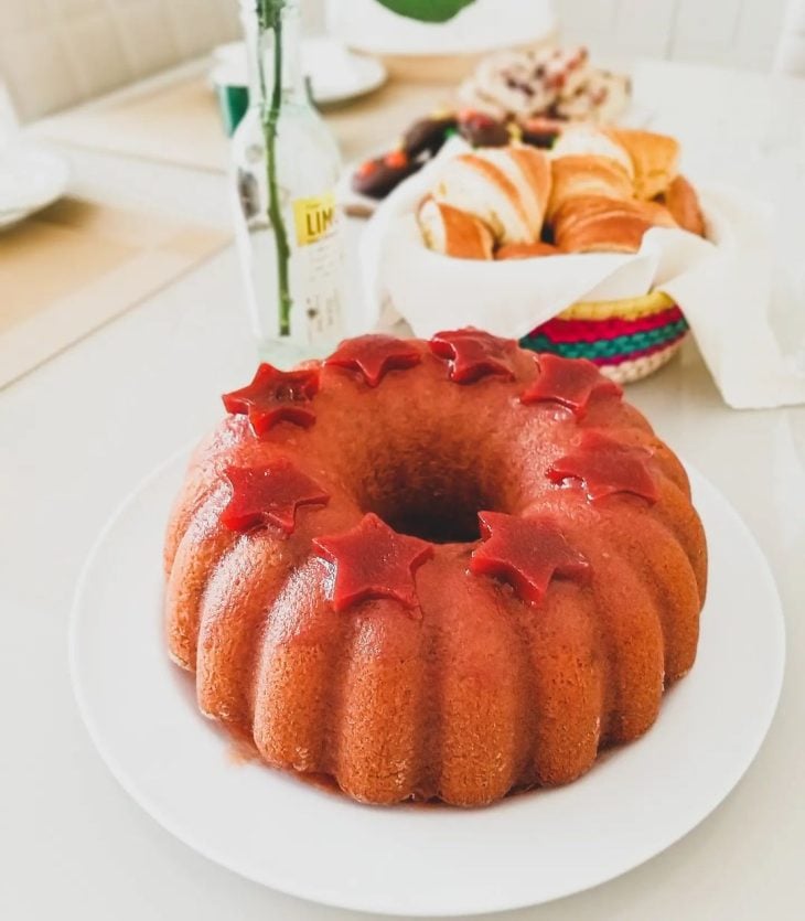
[(313, 544), (335, 564), (333, 608), (345, 611), (373, 598), (391, 598), (406, 608), (417, 607), (415, 570), (433, 555), (433, 547), (417, 537), (397, 534), (377, 515), (333, 537)]

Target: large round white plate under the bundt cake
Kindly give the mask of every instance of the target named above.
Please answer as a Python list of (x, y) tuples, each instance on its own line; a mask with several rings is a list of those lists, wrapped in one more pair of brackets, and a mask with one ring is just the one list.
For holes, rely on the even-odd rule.
[(694, 472), (711, 553), (698, 662), (654, 729), (580, 781), (485, 810), (377, 808), (236, 763), (164, 649), (162, 537), (185, 459), (158, 470), (98, 539), (76, 595), (71, 660), (80, 710), (112, 773), (211, 860), (364, 911), (447, 915), (535, 904), (668, 847), (754, 758), (783, 676), (780, 600), (738, 514)]

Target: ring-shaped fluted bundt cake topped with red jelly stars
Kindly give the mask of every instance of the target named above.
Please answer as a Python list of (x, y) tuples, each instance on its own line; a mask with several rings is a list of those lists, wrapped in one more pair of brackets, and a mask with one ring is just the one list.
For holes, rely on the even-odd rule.
[(491, 803), (636, 739), (694, 664), (686, 473), (592, 364), (365, 335), (224, 404), (168, 528), (168, 642), (268, 764)]

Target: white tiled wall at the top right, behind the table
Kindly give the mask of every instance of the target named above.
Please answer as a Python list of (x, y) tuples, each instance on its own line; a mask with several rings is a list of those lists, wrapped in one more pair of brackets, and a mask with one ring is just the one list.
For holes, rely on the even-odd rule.
[(607, 54), (769, 69), (775, 58), (787, 0), (556, 3), (565, 38)]

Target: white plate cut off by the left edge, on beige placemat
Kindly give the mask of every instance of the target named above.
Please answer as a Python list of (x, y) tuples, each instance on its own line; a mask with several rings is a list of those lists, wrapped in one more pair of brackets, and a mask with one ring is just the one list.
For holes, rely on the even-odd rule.
[(61, 199), (68, 180), (69, 168), (55, 153), (31, 143), (0, 148), (0, 227)]

